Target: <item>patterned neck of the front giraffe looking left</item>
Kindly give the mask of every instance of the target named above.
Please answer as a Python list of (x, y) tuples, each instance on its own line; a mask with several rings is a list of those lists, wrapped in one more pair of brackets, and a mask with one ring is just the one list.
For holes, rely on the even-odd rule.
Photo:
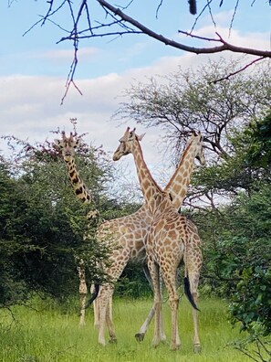
[(153, 214), (161, 202), (163, 195), (162, 189), (152, 178), (151, 172), (143, 158), (141, 144), (137, 139), (133, 143), (132, 154), (146, 205), (151, 211), (151, 214)]

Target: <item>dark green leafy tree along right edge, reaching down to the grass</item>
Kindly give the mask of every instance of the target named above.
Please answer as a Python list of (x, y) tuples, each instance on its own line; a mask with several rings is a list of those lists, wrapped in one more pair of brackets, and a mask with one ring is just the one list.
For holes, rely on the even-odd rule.
[(235, 155), (226, 161), (227, 176), (236, 165), (240, 175), (245, 170), (252, 176), (249, 192), (236, 189), (230, 204), (193, 214), (206, 240), (203, 276), (209, 288), (229, 301), (232, 323), (248, 333), (235, 348), (255, 361), (271, 357), (270, 114), (235, 133)]

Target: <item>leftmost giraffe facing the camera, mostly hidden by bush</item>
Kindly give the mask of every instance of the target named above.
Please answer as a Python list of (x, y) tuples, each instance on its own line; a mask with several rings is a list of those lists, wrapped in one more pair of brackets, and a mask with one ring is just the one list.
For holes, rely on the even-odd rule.
[[(78, 199), (83, 203), (89, 203), (91, 204), (92, 196), (89, 192), (89, 188), (85, 185), (85, 183), (82, 181), (81, 177), (78, 174), (78, 169), (76, 166), (74, 154), (75, 149), (79, 146), (80, 140), (77, 138), (74, 138), (73, 133), (69, 134), (69, 137), (65, 134), (64, 131), (61, 133), (61, 140), (55, 139), (55, 144), (59, 150), (61, 150), (63, 159), (65, 161), (65, 164), (67, 166), (68, 170), (68, 178), (70, 181), (70, 184), (73, 187), (75, 195), (78, 197)], [(89, 220), (93, 220), (98, 218), (98, 210), (91, 210), (89, 211), (87, 218)], [(85, 325), (85, 304), (87, 300), (87, 294), (88, 294), (88, 288), (87, 288), (87, 282), (86, 282), (86, 273), (84, 268), (84, 261), (80, 259), (78, 261), (78, 279), (79, 279), (79, 295), (80, 295), (80, 319), (79, 319), (79, 325)], [(94, 303), (95, 308), (95, 303)]]

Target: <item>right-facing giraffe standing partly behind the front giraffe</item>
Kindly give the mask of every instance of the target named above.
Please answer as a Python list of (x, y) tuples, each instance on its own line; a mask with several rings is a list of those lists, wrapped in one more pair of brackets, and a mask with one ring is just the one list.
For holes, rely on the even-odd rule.
[[(180, 206), (182, 205), (182, 200), (186, 195), (187, 188), (190, 183), (190, 176), (193, 170), (193, 167), (189, 168), (186, 166), (187, 159), (189, 159), (190, 157), (194, 158), (195, 156), (197, 156), (200, 158), (200, 161), (202, 163), (204, 162), (202, 144), (200, 144), (200, 146), (196, 148), (196, 152), (195, 152), (195, 147), (194, 146), (192, 147), (192, 144), (196, 144), (197, 141), (198, 138), (196, 138), (193, 135), (190, 141), (188, 142), (185, 151), (182, 154), (179, 166), (176, 168), (172, 176), (172, 179), (170, 180), (169, 184), (166, 186), (166, 190), (169, 190), (172, 195), (172, 205), (176, 209), (180, 208)], [(151, 213), (147, 207), (147, 204), (145, 203), (141, 207), (141, 209), (137, 211), (137, 213), (125, 219), (125, 225), (129, 226), (130, 227), (129, 229), (124, 228), (124, 224), (122, 224), (121, 222), (123, 220), (116, 219), (116, 221), (117, 222), (120, 221), (120, 224), (117, 226), (117, 229), (119, 229), (119, 227), (121, 226), (122, 230), (119, 235), (120, 237), (119, 248), (116, 251), (116, 254), (113, 256), (112, 269), (109, 271), (110, 275), (114, 275), (114, 281), (117, 281), (119, 279), (121, 272), (123, 271), (124, 267), (126, 266), (127, 262), (130, 259), (135, 260), (135, 258), (138, 258), (138, 261), (145, 262), (146, 253), (145, 253), (145, 245), (143, 240), (146, 237), (148, 229), (151, 224)], [(109, 223), (110, 222), (111, 221), (109, 221)], [(115, 221), (113, 221), (113, 224), (114, 222)], [(187, 223), (189, 225), (191, 235), (193, 235), (194, 242), (199, 241), (200, 239), (198, 237), (196, 227), (189, 220), (187, 220)], [(132, 233), (130, 231), (132, 231)], [(114, 234), (114, 232), (112, 234)], [(139, 236), (140, 238), (137, 239), (137, 236)], [(102, 345), (105, 344), (105, 338), (104, 338), (105, 321), (107, 321), (108, 323), (110, 341), (114, 341), (116, 339), (112, 321), (109, 320), (109, 317), (106, 312), (107, 308), (106, 301), (109, 301), (109, 299), (112, 296), (112, 293), (113, 293), (112, 286), (107, 286), (107, 287), (102, 286), (99, 293), (99, 303), (103, 303), (103, 306), (101, 308), (103, 312), (100, 315), (100, 321), (99, 321), (99, 343)], [(151, 312), (148, 315), (144, 324), (141, 325), (140, 332), (136, 334), (136, 338), (139, 341), (143, 340), (148, 325), (151, 322), (153, 314), (154, 314), (154, 306), (151, 308)], [(161, 325), (161, 330), (162, 330), (162, 325)], [(163, 335), (163, 331), (161, 332), (161, 334), (162, 334), (162, 339), (164, 339), (165, 336)]]

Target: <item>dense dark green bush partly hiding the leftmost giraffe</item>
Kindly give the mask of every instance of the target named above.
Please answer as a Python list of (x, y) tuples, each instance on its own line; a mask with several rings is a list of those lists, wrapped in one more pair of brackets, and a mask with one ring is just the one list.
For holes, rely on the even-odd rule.
[[(95, 225), (89, 225), (89, 209), (74, 197), (62, 157), (48, 142), (20, 145), (11, 160), (0, 158), (0, 306), (22, 303), (32, 293), (47, 293), (64, 300), (78, 290), (77, 265), (83, 258), (89, 282), (107, 276), (99, 261), (107, 264), (108, 247), (98, 244)], [(105, 195), (111, 177), (103, 150), (82, 143), (82, 174), (88, 180), (101, 217), (114, 208)], [(116, 214), (116, 210), (114, 213)]]

